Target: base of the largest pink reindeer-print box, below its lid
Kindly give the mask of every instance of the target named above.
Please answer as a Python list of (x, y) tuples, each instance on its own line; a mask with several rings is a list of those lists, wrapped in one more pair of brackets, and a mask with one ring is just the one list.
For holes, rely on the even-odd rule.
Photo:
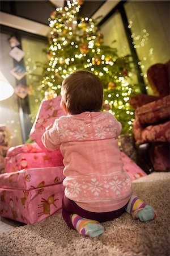
[(2, 217), (33, 224), (61, 209), (63, 185), (50, 185), (29, 191), (0, 188), (0, 196)]

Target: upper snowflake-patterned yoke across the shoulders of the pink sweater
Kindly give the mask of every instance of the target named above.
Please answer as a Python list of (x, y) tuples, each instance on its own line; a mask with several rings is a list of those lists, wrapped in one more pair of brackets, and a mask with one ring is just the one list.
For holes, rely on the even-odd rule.
[[(100, 112), (99, 112), (100, 113)], [(109, 115), (108, 115), (109, 114)], [(110, 116), (108, 112), (103, 112), (99, 117), (91, 118), (91, 114), (87, 113), (84, 119), (75, 118), (73, 115), (63, 116), (56, 120), (53, 129), (58, 131), (53, 135), (53, 141), (91, 141), (96, 139), (105, 139), (117, 137), (121, 130), (121, 124), (116, 118)]]

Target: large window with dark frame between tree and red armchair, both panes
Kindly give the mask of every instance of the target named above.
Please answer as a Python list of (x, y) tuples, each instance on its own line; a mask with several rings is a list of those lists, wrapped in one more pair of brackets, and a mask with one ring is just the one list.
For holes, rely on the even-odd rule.
[[(169, 7), (169, 1), (121, 1), (101, 21), (104, 43), (116, 47), (119, 56), (128, 53), (137, 56), (136, 72), (146, 84), (148, 94), (153, 93), (148, 85), (147, 69), (152, 64), (167, 62), (170, 56)], [(137, 77), (134, 74), (132, 77), (136, 82)]]

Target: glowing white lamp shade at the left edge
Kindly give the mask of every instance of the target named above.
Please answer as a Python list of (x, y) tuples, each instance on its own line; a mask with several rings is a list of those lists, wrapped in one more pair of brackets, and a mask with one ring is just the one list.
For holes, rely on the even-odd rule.
[(14, 93), (14, 88), (7, 81), (6, 77), (3, 76), (0, 71), (0, 101), (6, 100)]

